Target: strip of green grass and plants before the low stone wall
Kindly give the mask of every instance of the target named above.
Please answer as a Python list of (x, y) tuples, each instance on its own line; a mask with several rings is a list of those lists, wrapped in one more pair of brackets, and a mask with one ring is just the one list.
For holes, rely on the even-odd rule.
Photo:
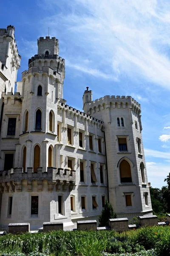
[(115, 231), (8, 234), (0, 237), (0, 256), (169, 256), (170, 226)]

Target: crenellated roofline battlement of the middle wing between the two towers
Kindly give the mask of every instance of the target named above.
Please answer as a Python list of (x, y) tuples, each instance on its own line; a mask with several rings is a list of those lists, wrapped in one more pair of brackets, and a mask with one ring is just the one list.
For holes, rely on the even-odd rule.
[(104, 122), (102, 122), (101, 120), (96, 119), (93, 116), (90, 116), (90, 115), (88, 115), (88, 114), (86, 114), (86, 113), (84, 113), (82, 111), (77, 110), (76, 108), (73, 108), (73, 107), (71, 107), (69, 105), (65, 105), (64, 103), (61, 103), (61, 102), (58, 103), (58, 109), (59, 110), (68, 111), (70, 113), (73, 113), (74, 115), (80, 116), (80, 117), (82, 117), (84, 119), (88, 119), (89, 121), (97, 122), (97, 123), (99, 123), (99, 125), (103, 125), (104, 124)]

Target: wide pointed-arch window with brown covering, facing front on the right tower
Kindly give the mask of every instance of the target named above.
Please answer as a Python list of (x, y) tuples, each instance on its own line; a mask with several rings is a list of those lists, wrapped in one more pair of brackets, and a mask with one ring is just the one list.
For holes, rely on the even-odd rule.
[(131, 167), (126, 160), (122, 160), (119, 166), (120, 169), (120, 182), (132, 182)]

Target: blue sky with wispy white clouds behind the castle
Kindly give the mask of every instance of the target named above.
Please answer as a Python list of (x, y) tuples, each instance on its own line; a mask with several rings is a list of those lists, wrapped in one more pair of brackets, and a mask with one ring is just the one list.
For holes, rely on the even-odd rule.
[(166, 185), (170, 172), (170, 1), (169, 0), (6, 0), (0, 27), (15, 26), (22, 56), (37, 54), (37, 38), (59, 39), (65, 58), (64, 98), (82, 109), (88, 86), (93, 99), (130, 95), (142, 107), (147, 176)]

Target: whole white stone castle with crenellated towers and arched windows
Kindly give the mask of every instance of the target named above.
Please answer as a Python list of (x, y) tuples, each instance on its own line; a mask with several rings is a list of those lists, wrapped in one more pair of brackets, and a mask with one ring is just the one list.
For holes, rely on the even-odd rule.
[(56, 38), (14, 85), (21, 56), (14, 26), (0, 29), (0, 224), (98, 219), (108, 200), (118, 217), (152, 215), (141, 107), (130, 96), (83, 94), (83, 111), (63, 99), (65, 60)]

